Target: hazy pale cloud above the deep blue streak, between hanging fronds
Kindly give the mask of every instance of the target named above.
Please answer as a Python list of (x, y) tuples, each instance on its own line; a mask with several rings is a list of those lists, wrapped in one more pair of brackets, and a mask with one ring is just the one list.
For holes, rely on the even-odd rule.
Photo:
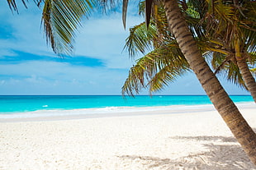
[[(140, 24), (140, 16), (129, 16), (127, 28)], [(121, 13), (114, 13), (102, 18), (84, 21), (83, 29), (78, 33), (75, 53), (104, 59), (109, 68), (130, 68), (132, 66), (128, 53), (123, 48), (129, 29), (124, 29)]]

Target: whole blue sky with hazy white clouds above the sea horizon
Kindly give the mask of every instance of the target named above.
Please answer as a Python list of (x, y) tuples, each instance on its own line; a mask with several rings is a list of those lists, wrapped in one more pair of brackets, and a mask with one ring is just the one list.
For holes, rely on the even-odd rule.
[[(135, 58), (123, 50), (129, 28), (144, 18), (135, 4), (128, 8), (126, 30), (121, 12), (92, 15), (78, 29), (73, 55), (59, 57), (46, 44), (41, 9), (30, 1), (18, 4), (19, 14), (0, 1), (1, 94), (121, 94)], [(142, 55), (138, 55), (142, 57)], [(249, 94), (220, 79), (228, 94)], [(142, 90), (140, 94), (148, 94)], [(193, 73), (154, 94), (205, 94)]]

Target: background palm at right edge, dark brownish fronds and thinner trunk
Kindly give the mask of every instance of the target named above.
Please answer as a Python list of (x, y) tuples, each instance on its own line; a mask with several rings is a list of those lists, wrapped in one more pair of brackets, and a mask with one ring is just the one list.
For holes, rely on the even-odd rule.
[(191, 3), (194, 7), (201, 3), (198, 10), (205, 21), (208, 37), (204, 47), (213, 52), (213, 57), (225, 56), (216, 70), (219, 71), (220, 67), (225, 65), (231, 65), (230, 68), (238, 67), (240, 72), (231, 71), (233, 74), (228, 75), (232, 78), (234, 73), (236, 77), (242, 76), (243, 80), (237, 80), (245, 83), (256, 102), (256, 82), (247, 64), (255, 58), (256, 3), (223, 0), (215, 0), (211, 5), (201, 0), (193, 0)]

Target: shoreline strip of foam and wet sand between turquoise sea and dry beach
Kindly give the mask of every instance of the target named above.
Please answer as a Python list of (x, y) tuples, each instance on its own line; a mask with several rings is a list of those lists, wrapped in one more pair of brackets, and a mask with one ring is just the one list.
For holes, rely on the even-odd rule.
[[(255, 108), (253, 102), (235, 103), (238, 108)], [(216, 111), (212, 104), (169, 105), (156, 107), (107, 107), (73, 110), (38, 110), (25, 113), (0, 114), (1, 122), (58, 121), (97, 117), (126, 117), (154, 114), (180, 114)]]

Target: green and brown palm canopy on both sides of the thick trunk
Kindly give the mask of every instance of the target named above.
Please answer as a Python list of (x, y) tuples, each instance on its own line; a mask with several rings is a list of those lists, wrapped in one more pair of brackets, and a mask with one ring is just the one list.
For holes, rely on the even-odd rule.
[[(205, 4), (197, 1), (189, 2), (188, 7), (186, 6), (186, 9), (183, 8), (185, 11), (184, 13), (187, 14), (187, 23), (189, 24), (191, 31), (197, 40), (197, 44), (201, 48), (201, 53), (207, 57), (207, 60), (211, 60), (212, 67), (216, 69), (216, 73), (222, 73), (222, 75), (226, 76), (228, 80), (234, 82), (237, 85), (241, 85), (241, 87), (247, 88), (244, 85), (244, 80), (241, 73), (239, 72), (239, 68), (236, 65), (234, 53), (235, 48), (233, 48), (234, 46), (231, 43), (232, 39), (234, 38), (232, 38), (232, 34), (230, 34), (230, 32), (227, 33), (225, 30), (234, 30), (236, 28), (235, 24), (230, 22), (237, 21), (238, 18), (235, 18), (234, 15), (230, 14), (234, 14), (235, 12), (238, 13), (236, 16), (241, 18), (241, 25), (239, 25), (237, 28), (241, 30), (240, 34), (243, 34), (243, 36), (241, 35), (240, 37), (241, 39), (248, 39), (248, 42), (244, 42), (244, 46), (241, 48), (244, 50), (243, 54), (248, 56), (247, 62), (249, 62), (249, 66), (253, 66), (255, 62), (255, 13), (248, 11), (253, 11), (254, 3), (249, 2), (249, 5), (247, 5), (249, 7), (244, 7), (243, 9), (244, 13), (249, 17), (241, 17), (244, 16), (244, 13), (242, 14), (238, 12), (239, 10), (232, 7), (232, 4), (225, 5), (224, 7), (223, 5), (218, 5), (220, 2), (216, 4), (217, 5), (215, 6), (215, 11), (218, 13), (215, 12), (215, 17), (210, 17), (209, 15), (211, 10), (209, 10), (207, 7), (206, 2)], [(144, 3), (140, 3), (140, 8), (140, 13), (144, 14)], [(220, 8), (226, 9), (223, 10), (224, 12), (220, 13)], [(130, 29), (130, 36), (126, 39), (126, 48), (130, 52), (131, 57), (138, 52), (145, 55), (145, 51), (150, 51), (152, 49), (154, 49), (154, 51), (146, 54), (145, 57), (142, 57), (140, 60), (138, 60), (137, 64), (130, 69), (129, 77), (123, 86), (123, 93), (133, 94), (133, 91), (139, 93), (140, 89), (145, 88), (146, 86), (149, 86), (149, 92), (154, 90), (161, 90), (163, 89), (164, 85), (168, 85), (168, 82), (172, 82), (188, 69), (188, 67), (184, 67), (178, 64), (182, 62), (175, 63), (176, 57), (183, 56), (183, 54), (180, 51), (178, 52), (178, 44), (175, 39), (170, 36), (171, 33), (168, 31), (168, 25), (166, 16), (163, 12), (163, 7), (154, 7), (153, 13), (154, 15), (148, 29), (145, 28), (144, 23), (135, 25), (134, 28)], [(218, 26), (216, 21), (221, 21), (223, 23), (221, 26)], [(147, 34), (143, 34), (145, 32)], [(231, 31), (231, 33), (233, 32), (235, 31)], [(243, 40), (241, 40), (241, 44), (242, 41)], [(169, 56), (167, 59), (160, 57), (166, 56), (166, 51), (168, 51), (168, 54), (172, 53), (173, 56), (176, 57)], [(154, 59), (153, 56), (158, 56), (159, 59)], [(149, 61), (145, 62), (146, 59), (149, 60), (149, 58), (156, 63), (159, 63), (159, 60), (161, 59), (163, 60), (161, 61), (161, 64), (157, 65), (154, 63), (153, 66), (149, 67), (149, 63), (153, 63)], [(175, 66), (173, 67), (173, 70), (176, 70), (176, 72), (173, 74), (168, 74), (168, 70), (166, 70), (163, 62), (165, 63), (165, 66), (168, 66), (168, 68), (172, 67), (173, 64), (173, 66)], [(185, 65), (186, 63), (186, 61), (183, 62)], [(159, 76), (159, 74), (162, 74), (162, 76)], [(163, 74), (165, 74), (166, 77), (164, 77)], [(167, 76), (167, 74), (169, 76)], [(173, 75), (172, 78), (170, 78), (170, 75)]]

